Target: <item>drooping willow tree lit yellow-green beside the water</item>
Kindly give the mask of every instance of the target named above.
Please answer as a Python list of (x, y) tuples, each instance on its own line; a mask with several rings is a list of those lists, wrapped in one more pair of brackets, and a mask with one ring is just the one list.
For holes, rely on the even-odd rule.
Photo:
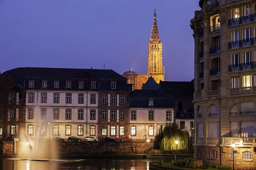
[[(178, 141), (178, 144), (175, 143)], [(181, 129), (177, 122), (166, 124), (160, 127), (154, 142), (154, 149), (160, 150), (188, 150), (189, 132)]]

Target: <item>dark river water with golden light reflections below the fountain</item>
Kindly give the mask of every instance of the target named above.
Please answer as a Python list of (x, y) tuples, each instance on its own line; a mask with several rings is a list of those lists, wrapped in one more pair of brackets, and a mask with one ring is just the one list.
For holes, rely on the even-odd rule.
[(0, 159), (0, 170), (149, 170), (148, 160), (58, 160), (26, 161)]

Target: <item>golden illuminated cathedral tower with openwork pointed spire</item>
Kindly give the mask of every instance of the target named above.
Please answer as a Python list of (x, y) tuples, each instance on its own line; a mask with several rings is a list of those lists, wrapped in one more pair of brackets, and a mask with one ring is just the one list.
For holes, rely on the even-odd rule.
[(162, 43), (157, 28), (156, 9), (154, 9), (154, 21), (148, 43), (148, 74), (163, 74)]

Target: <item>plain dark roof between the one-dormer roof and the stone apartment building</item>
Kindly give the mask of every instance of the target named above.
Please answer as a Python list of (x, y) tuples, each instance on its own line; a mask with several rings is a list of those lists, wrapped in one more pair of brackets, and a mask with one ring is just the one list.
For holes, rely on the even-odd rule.
[(193, 82), (166, 82), (160, 81), (160, 89), (175, 97), (193, 97)]

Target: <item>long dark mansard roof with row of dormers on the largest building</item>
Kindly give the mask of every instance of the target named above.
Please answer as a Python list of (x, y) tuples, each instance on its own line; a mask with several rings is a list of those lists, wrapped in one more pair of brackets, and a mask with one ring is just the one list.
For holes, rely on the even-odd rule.
[[(53, 88), (54, 80), (59, 80), (60, 89), (66, 89), (66, 80), (71, 80), (71, 89), (78, 89), (78, 82), (84, 81), (84, 90), (90, 89), (90, 81), (96, 81), (95, 90), (111, 90), (111, 81), (116, 81), (116, 91), (128, 91), (127, 79), (113, 70), (81, 68), (14, 68), (5, 71), (15, 79), (15, 83), (28, 88), (29, 80), (35, 80), (35, 89), (41, 88), (41, 81), (47, 79), (47, 89)], [(90, 89), (91, 90), (91, 89)]]

